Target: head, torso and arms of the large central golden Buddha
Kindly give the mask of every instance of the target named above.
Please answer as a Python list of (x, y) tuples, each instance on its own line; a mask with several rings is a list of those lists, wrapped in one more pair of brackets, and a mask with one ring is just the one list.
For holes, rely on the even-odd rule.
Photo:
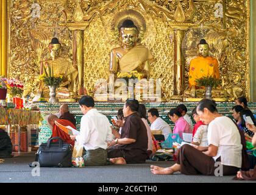
[(117, 73), (138, 71), (142, 74), (141, 79), (149, 78), (150, 65), (154, 58), (148, 48), (138, 43), (138, 34), (137, 26), (130, 19), (126, 19), (119, 27), (122, 44), (110, 52), (109, 90), (114, 90)]

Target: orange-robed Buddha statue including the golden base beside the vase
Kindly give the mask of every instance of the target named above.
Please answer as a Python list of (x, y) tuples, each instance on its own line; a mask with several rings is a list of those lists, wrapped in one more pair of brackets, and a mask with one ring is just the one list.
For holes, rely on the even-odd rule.
[[(190, 93), (191, 98), (203, 98), (205, 90), (196, 85), (196, 79), (205, 76), (212, 76), (219, 79), (219, 65), (215, 57), (209, 55), (209, 45), (202, 39), (197, 44), (198, 56), (190, 61), (190, 71), (188, 73), (189, 90), (185, 91)], [(225, 98), (226, 93), (224, 90), (213, 90), (213, 98)], [(214, 97), (215, 96), (215, 97)]]

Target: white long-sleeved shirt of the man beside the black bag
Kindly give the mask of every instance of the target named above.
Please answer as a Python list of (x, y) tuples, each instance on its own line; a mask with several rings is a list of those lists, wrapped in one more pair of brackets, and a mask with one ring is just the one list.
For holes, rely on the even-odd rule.
[(107, 142), (113, 140), (110, 126), (107, 116), (93, 108), (82, 116), (80, 135), (77, 135), (76, 140), (84, 145), (86, 151), (107, 149)]

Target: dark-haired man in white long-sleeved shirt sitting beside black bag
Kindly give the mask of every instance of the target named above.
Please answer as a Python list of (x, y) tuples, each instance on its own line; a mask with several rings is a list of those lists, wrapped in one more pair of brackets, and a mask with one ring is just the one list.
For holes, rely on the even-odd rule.
[(94, 99), (83, 96), (79, 105), (84, 116), (81, 118), (80, 135), (70, 135), (72, 140), (84, 145), (85, 166), (107, 165), (107, 143), (112, 141), (111, 124), (107, 116), (94, 108)]

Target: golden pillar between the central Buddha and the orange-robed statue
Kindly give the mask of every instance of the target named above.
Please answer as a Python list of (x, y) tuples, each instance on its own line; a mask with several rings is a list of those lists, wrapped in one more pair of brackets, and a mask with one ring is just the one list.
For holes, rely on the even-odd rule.
[(180, 96), (184, 90), (185, 62), (182, 55), (182, 40), (185, 30), (174, 29), (174, 96)]

